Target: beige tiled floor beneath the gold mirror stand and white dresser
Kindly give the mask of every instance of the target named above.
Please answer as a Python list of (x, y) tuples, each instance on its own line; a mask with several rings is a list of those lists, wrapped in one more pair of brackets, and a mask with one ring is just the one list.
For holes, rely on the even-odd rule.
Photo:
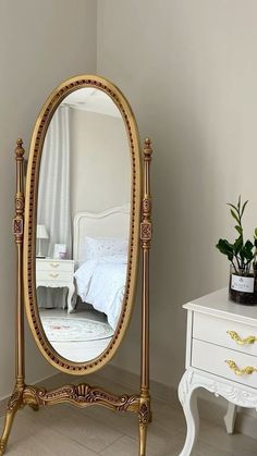
[[(110, 390), (110, 382), (101, 384)], [(115, 385), (114, 392), (122, 386)], [(120, 391), (118, 391), (120, 390)], [(127, 389), (125, 389), (127, 392)], [(185, 422), (179, 405), (152, 400), (149, 456), (178, 456), (185, 439)], [(3, 418), (0, 419), (2, 426)], [(227, 435), (224, 427), (200, 420), (194, 456), (256, 456), (257, 441), (245, 435)], [(25, 408), (17, 412), (7, 455), (10, 456), (137, 456), (137, 418), (101, 407), (77, 409), (70, 405)]]

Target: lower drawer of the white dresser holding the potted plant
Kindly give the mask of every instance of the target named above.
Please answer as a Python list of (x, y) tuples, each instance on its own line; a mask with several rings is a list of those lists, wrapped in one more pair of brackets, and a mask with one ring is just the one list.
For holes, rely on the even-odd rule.
[(236, 375), (227, 360), (235, 362), (238, 369), (248, 366), (257, 368), (257, 359), (254, 356), (193, 340), (192, 367), (257, 389), (257, 372)]

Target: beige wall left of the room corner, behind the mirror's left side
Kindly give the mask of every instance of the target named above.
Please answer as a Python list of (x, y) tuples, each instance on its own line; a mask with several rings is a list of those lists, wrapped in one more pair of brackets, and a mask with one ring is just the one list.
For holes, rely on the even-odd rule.
[[(28, 148), (36, 116), (63, 79), (96, 71), (94, 0), (0, 2), (0, 398), (14, 383), (14, 145)], [(27, 331), (27, 381), (51, 372)]]

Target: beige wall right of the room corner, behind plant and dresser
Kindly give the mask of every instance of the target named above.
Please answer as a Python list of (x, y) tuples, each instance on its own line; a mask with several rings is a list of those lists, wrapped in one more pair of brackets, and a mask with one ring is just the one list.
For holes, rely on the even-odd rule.
[[(257, 225), (256, 16), (253, 0), (98, 2), (97, 71), (155, 146), (151, 377), (169, 385), (184, 369), (182, 304), (228, 283), (225, 202), (249, 199), (247, 233)], [(133, 371), (138, 320), (114, 360)]]

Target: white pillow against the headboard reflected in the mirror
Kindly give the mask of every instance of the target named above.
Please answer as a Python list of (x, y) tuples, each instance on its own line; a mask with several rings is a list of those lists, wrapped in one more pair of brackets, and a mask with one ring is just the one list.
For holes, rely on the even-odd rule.
[(119, 237), (85, 237), (86, 260), (114, 257), (117, 255), (127, 256), (127, 239)]

